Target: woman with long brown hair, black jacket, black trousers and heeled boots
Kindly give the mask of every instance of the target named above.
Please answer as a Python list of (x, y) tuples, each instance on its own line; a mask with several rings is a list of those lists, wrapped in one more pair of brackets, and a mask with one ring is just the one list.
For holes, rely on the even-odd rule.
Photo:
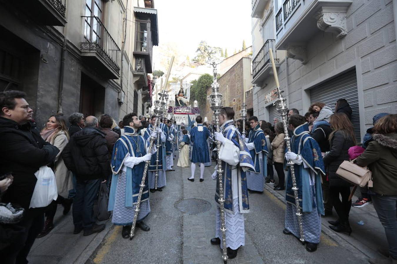
[[(330, 134), (330, 152), (324, 157), (324, 165), (330, 180), (330, 198), (339, 216), (337, 221), (328, 221), (330, 228), (335, 232), (346, 232), (350, 235), (349, 201), (351, 184), (336, 175), (336, 170), (344, 160), (349, 160), (348, 150), (356, 145), (353, 125), (344, 113), (333, 114), (330, 117), (330, 125), (333, 131)], [(339, 194), (342, 201), (339, 199)]]

